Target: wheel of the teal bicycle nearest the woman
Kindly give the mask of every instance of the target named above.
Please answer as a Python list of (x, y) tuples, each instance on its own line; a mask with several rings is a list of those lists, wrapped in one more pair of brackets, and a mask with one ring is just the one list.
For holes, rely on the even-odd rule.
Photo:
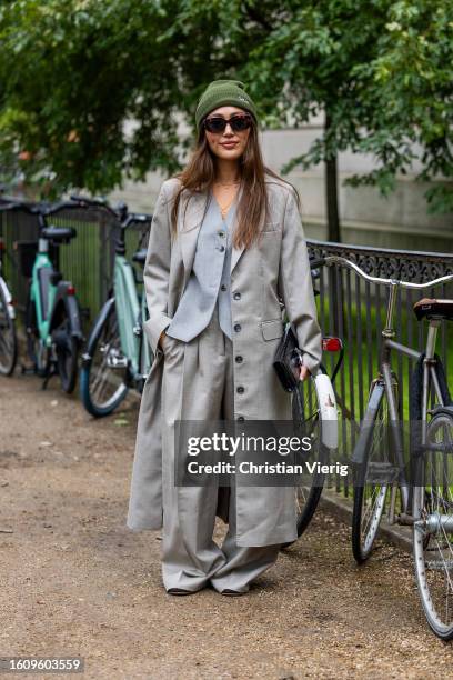
[(115, 358), (122, 353), (114, 304), (103, 323), (98, 327), (94, 322), (93, 328), (80, 373), (80, 397), (91, 416), (102, 418), (114, 411), (129, 389), (127, 369), (114, 368)]

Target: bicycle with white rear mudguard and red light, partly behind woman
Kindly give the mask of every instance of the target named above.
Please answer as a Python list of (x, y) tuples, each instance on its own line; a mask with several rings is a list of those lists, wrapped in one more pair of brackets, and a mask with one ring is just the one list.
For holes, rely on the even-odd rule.
[[(322, 263), (321, 259), (310, 261), (313, 283), (320, 277), (319, 267)], [(313, 291), (315, 296), (319, 294), (316, 289)], [(311, 376), (309, 381), (299, 383), (292, 393), (292, 419), (298, 436), (310, 437), (311, 461), (326, 463), (330, 452), (338, 448), (338, 412), (333, 384), (343, 361), (343, 342), (340, 338), (324, 336), (322, 350), (323, 352), (339, 352), (332, 376), (329, 378), (328, 370), (321, 362), (319, 376)], [(316, 468), (308, 481), (303, 480), (303, 483), (295, 487), (298, 538), (308, 529), (316, 511), (325, 478), (325, 473)], [(292, 544), (285, 543), (282, 548), (289, 548)]]

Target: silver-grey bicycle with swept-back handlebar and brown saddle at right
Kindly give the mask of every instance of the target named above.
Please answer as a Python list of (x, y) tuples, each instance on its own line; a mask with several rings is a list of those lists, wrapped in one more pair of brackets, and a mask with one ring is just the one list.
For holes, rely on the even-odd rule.
[[(415, 579), (424, 614), (437, 637), (451, 640), (453, 402), (435, 344), (442, 320), (453, 320), (453, 300), (424, 298), (414, 303), (419, 321), (429, 321), (424, 352), (393, 340), (393, 317), (397, 290), (435, 288), (453, 281), (453, 274), (427, 283), (412, 283), (369, 276), (340, 256), (328, 256), (324, 263), (349, 267), (366, 281), (390, 289), (380, 370), (370, 387), (368, 407), (352, 456), (355, 471), (354, 558), (358, 563), (363, 563), (370, 557), (386, 509), (390, 523), (411, 526)], [(399, 417), (399, 386), (391, 367), (392, 352), (417, 362), (411, 379), (409, 464), (404, 460), (404, 429)]]

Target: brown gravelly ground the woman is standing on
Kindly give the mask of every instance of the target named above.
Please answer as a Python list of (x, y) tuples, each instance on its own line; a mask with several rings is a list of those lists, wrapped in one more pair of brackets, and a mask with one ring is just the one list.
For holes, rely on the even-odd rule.
[(80, 654), (111, 680), (453, 677), (410, 557), (358, 569), (326, 514), (248, 596), (167, 596), (159, 532), (124, 523), (135, 421), (134, 400), (94, 421), (57, 381), (0, 380), (0, 656)]

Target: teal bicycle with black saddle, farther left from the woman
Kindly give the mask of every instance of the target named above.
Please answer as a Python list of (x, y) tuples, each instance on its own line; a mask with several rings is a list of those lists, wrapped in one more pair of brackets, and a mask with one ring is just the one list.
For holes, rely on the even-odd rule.
[[(16, 241), (22, 274), (29, 279), (26, 307), (27, 353), (31, 371), (44, 378), (43, 389), (52, 376), (60, 377), (61, 388), (71, 393), (76, 388), (79, 349), (83, 341), (76, 288), (64, 281), (54, 267), (60, 246), (77, 236), (73, 228), (53, 227), (48, 219), (58, 212), (78, 208), (74, 202), (34, 206), (11, 200), (1, 211), (21, 210), (38, 218), (38, 241)], [(22, 372), (28, 372), (22, 368)]]

